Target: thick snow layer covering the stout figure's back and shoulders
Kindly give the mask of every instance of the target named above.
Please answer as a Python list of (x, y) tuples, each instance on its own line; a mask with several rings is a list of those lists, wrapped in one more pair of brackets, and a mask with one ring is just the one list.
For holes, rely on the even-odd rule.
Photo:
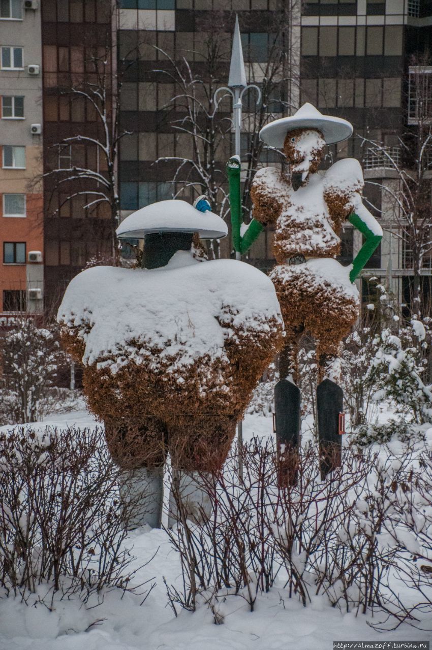
[(206, 354), (224, 358), (230, 324), (263, 331), (271, 318), (282, 323), (271, 280), (230, 259), (154, 270), (88, 268), (66, 289), (57, 318), (78, 328), (83, 363), (105, 358), (103, 367), (113, 373), (144, 360), (140, 342), (161, 349), (161, 356), (180, 353), (178, 363), (188, 365)]

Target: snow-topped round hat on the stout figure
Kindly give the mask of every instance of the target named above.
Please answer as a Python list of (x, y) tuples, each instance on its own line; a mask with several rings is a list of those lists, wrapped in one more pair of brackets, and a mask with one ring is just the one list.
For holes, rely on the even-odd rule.
[(202, 212), (180, 199), (158, 201), (129, 214), (116, 229), (118, 239), (144, 239), (150, 233), (198, 233), (201, 239), (228, 235), (228, 226), (217, 214)]

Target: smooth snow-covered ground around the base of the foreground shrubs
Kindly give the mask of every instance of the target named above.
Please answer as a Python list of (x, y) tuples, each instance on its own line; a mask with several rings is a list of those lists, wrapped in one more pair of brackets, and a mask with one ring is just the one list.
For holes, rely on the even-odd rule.
[[(96, 426), (84, 410), (53, 415), (37, 426), (44, 428), (46, 424), (59, 428), (73, 424)], [(245, 439), (273, 435), (272, 430), (271, 417), (247, 415), (243, 424)], [(431, 437), (427, 435), (428, 440)], [(312, 599), (304, 608), (297, 599), (287, 597), (282, 584), (259, 595), (253, 613), (241, 597), (221, 597), (222, 625), (213, 623), (206, 604), (195, 613), (178, 608), (175, 617), (167, 605), (163, 578), (180, 588), (181, 571), (178, 554), (170, 547), (167, 534), (163, 530), (140, 529), (130, 534), (127, 545), (133, 547), (137, 558), (134, 567), (141, 567), (154, 556), (135, 577), (139, 584), (150, 579), (155, 583), (142, 605), (143, 596), (120, 590), (105, 593), (100, 606), (85, 608), (79, 601), (56, 601), (53, 611), (38, 603), (37, 595), (31, 606), (5, 598), (0, 600), (0, 649), (330, 650), (333, 641), (341, 640), (382, 643), (432, 638), (431, 632), (406, 623), (394, 631), (377, 632), (370, 627), (369, 616), (341, 614), (323, 597)], [(39, 595), (42, 597), (44, 592)], [(432, 620), (422, 621), (422, 626), (432, 628)]]

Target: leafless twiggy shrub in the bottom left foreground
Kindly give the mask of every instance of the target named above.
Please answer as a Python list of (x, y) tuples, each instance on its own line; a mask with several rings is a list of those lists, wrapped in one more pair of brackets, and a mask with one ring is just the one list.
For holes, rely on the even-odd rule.
[(124, 548), (131, 504), (118, 499), (119, 470), (100, 429), (16, 427), (0, 434), (0, 586), (27, 601), (130, 585)]

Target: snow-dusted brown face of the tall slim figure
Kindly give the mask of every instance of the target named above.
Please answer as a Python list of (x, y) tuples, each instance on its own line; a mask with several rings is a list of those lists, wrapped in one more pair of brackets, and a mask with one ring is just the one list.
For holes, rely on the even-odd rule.
[(325, 140), (318, 129), (293, 129), (284, 141), (284, 154), (291, 165), (291, 183), (297, 190), (305, 185), (309, 174), (314, 174), (323, 159)]

